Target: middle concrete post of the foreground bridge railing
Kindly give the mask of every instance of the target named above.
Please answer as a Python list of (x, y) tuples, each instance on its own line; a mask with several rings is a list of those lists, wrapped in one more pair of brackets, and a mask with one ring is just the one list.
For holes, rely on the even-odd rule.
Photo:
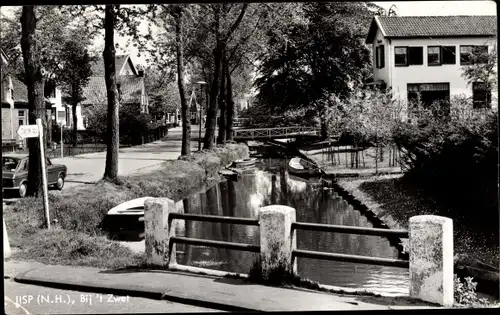
[[(295, 209), (271, 205), (260, 208), (260, 261), (262, 279), (269, 280), (273, 273), (293, 272), (292, 252), (297, 238), (292, 231), (296, 220)], [(293, 263), (296, 265), (296, 262)]]

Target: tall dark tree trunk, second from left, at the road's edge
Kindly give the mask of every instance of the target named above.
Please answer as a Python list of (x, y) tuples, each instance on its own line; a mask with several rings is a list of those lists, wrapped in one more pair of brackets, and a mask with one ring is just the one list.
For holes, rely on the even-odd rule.
[[(118, 6), (116, 7), (118, 9)], [(115, 73), (115, 5), (106, 5), (104, 17), (104, 78), (108, 96), (107, 151), (104, 178), (118, 180), (118, 149), (120, 148), (119, 104), (116, 95)]]

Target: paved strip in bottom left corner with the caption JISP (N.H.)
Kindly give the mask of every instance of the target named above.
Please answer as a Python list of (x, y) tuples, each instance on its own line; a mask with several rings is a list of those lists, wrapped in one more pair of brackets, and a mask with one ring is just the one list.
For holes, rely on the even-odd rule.
[(8, 315), (220, 312), (165, 300), (59, 290), (11, 279), (4, 279), (4, 287), (4, 307)]

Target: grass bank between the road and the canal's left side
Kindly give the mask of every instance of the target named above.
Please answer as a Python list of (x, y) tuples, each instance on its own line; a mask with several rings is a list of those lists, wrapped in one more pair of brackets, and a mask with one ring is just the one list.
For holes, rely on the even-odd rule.
[(166, 161), (152, 173), (99, 181), (62, 192), (49, 192), (53, 228), (43, 228), (40, 199), (21, 199), (4, 209), (11, 259), (45, 264), (123, 268), (143, 263), (142, 255), (106, 238), (101, 223), (109, 209), (133, 198), (167, 197), (181, 200), (193, 191), (214, 184), (219, 169), (231, 161), (248, 157), (248, 147), (228, 144), (203, 150), (189, 158)]

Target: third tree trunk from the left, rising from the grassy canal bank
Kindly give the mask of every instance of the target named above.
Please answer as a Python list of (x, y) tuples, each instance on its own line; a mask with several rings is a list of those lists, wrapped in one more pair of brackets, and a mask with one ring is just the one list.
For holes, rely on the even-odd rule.
[[(191, 122), (186, 101), (186, 83), (184, 78), (184, 47), (182, 38), (182, 8), (177, 6), (173, 12), (175, 19), (175, 49), (177, 53), (177, 85), (181, 99), (182, 146), (181, 155), (191, 155)], [(201, 123), (200, 123), (201, 128)]]

